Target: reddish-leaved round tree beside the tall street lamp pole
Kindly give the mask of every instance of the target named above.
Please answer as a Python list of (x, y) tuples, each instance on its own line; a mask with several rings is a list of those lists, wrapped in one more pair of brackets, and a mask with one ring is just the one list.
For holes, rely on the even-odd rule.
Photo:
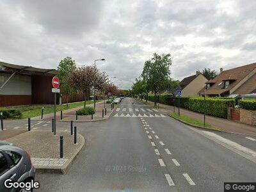
[(72, 70), (68, 78), (68, 82), (79, 92), (84, 93), (84, 108), (86, 107), (86, 95), (90, 93), (90, 89), (95, 82), (95, 71), (93, 66), (82, 66)]

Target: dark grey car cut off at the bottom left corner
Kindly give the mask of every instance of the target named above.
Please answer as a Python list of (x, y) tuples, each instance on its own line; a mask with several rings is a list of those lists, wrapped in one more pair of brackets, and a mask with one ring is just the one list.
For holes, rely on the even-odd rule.
[(35, 179), (35, 168), (25, 150), (12, 143), (0, 141), (0, 191), (22, 191), (5, 188), (6, 179), (11, 179), (13, 183), (31, 182)]

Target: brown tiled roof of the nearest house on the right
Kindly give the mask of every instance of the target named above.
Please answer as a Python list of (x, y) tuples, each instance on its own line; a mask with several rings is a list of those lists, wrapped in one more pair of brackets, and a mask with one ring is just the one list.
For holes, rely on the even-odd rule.
[[(252, 72), (255, 68), (256, 68), (256, 63), (252, 63), (249, 65), (244, 65), (244, 66), (232, 68), (229, 70), (223, 70), (223, 72), (221, 72), (221, 74), (219, 74), (214, 79), (212, 79), (211, 82), (207, 81), (207, 83), (214, 83), (214, 84), (212, 84), (212, 86), (208, 90), (206, 90), (206, 94), (207, 95), (218, 95), (218, 94), (230, 91), (232, 88), (234, 88), (234, 86), (237, 85), (237, 83), (239, 83), (241, 80), (243, 80), (244, 77), (248, 76), (248, 74), (250, 74), (250, 72)], [(255, 77), (253, 77), (253, 78), (255, 78)], [(228, 79), (236, 80), (236, 81), (231, 83), (227, 88), (223, 88), (224, 81), (227, 81)], [(250, 79), (252, 79), (252, 77)], [(255, 90), (256, 84), (254, 84), (254, 88), (253, 88), (253, 85), (251, 82), (253, 82), (253, 80), (250, 80), (249, 83), (247, 83), (247, 81), (245, 83), (243, 83), (242, 86), (240, 86), (234, 92), (234, 94), (238, 93), (238, 92), (244, 93), (244, 92), (248, 92), (250, 90)], [(250, 88), (248, 87), (249, 85), (250, 85)], [(244, 88), (242, 88), (243, 86), (244, 86)], [(199, 93), (204, 94), (204, 89), (201, 90)]]

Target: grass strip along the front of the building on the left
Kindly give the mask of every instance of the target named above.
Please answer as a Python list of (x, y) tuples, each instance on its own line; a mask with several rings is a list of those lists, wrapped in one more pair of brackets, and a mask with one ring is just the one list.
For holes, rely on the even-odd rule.
[[(100, 100), (96, 100), (96, 102), (99, 102)], [(86, 106), (88, 104), (92, 104), (93, 100), (86, 100)], [(57, 105), (56, 111), (64, 111), (67, 109), (73, 109), (80, 106), (83, 106), (84, 102), (76, 102), (76, 103), (70, 103), (68, 106), (66, 104), (63, 104), (62, 106)], [(21, 119), (24, 118), (33, 118), (35, 116), (40, 116), (42, 113), (42, 107), (43, 105), (35, 105), (35, 106), (20, 106), (20, 107), (13, 107), (13, 109), (19, 109), (22, 113)], [(8, 108), (12, 109), (12, 108)], [(44, 115), (53, 113), (54, 112), (54, 106), (44, 106)]]

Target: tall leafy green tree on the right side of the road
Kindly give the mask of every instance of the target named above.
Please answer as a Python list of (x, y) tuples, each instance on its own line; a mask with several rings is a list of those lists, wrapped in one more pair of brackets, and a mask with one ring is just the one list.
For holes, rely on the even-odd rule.
[(153, 58), (144, 63), (142, 77), (147, 77), (149, 90), (154, 92), (154, 104), (156, 106), (156, 95), (166, 88), (170, 79), (170, 66), (172, 58), (170, 54), (153, 54)]

